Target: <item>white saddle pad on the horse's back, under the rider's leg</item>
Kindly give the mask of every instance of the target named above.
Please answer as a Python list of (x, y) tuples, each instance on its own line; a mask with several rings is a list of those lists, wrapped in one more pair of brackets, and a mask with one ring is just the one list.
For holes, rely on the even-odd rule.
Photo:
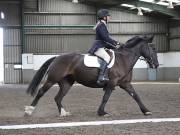
[[(112, 60), (109, 63), (109, 65), (107, 66), (108, 68), (111, 68), (114, 65), (115, 62), (115, 55), (114, 55), (114, 51), (110, 50), (112, 52)], [(89, 54), (85, 54), (84, 55), (84, 65), (87, 67), (100, 67), (100, 63), (98, 62), (98, 57), (97, 56), (92, 56)]]

